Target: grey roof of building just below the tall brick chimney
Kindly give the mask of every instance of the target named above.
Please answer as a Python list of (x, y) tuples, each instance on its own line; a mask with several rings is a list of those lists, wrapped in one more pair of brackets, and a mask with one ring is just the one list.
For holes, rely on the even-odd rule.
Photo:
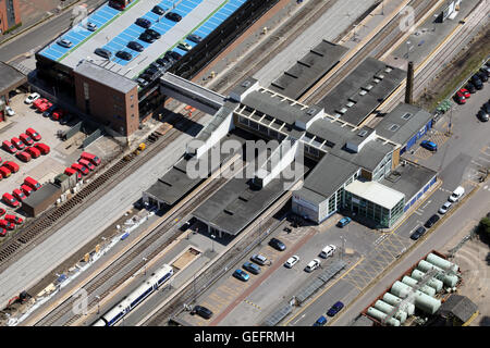
[(432, 115), (424, 109), (400, 103), (375, 128), (380, 136), (404, 146), (430, 120)]

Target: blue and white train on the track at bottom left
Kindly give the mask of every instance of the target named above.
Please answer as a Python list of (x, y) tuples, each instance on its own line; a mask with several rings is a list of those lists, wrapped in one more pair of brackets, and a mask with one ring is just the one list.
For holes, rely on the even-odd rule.
[(121, 302), (115, 304), (106, 314), (100, 316), (91, 326), (113, 326), (124, 315), (143, 302), (151, 293), (158, 289), (160, 285), (166, 283), (173, 275), (171, 265), (163, 264), (155, 273), (151, 274), (142, 285), (133, 293), (126, 296)]

